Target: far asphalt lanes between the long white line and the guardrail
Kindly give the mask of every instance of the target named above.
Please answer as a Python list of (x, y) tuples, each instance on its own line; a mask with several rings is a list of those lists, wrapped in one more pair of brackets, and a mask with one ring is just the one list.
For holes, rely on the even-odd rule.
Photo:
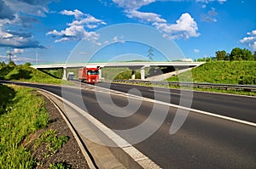
[[(105, 82), (97, 85), (101, 87), (109, 87), (109, 84)], [(191, 91), (185, 90), (183, 93), (178, 89), (169, 89), (166, 92), (166, 89), (161, 87), (143, 87), (119, 83), (112, 83), (110, 88), (124, 93), (127, 93), (131, 88), (137, 88), (140, 90), (143, 97), (149, 99), (155, 99), (154, 94), (158, 93), (160, 95), (160, 101), (177, 105), (180, 104), (181, 94), (183, 94), (183, 99), (186, 99), (186, 93), (188, 93), (189, 96), (191, 94)], [(170, 94), (171, 101), (166, 99)], [(194, 91), (192, 95), (192, 104), (189, 108), (256, 123), (256, 97), (196, 91)]]

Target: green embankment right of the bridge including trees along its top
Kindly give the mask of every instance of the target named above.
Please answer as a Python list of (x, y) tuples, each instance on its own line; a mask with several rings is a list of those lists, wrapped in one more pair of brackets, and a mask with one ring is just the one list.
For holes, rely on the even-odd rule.
[[(223, 84), (256, 84), (256, 52), (246, 48), (233, 48), (215, 52), (215, 57), (197, 59), (207, 63), (191, 70), (193, 82), (210, 82)], [(189, 82), (190, 72), (173, 76), (169, 82)]]

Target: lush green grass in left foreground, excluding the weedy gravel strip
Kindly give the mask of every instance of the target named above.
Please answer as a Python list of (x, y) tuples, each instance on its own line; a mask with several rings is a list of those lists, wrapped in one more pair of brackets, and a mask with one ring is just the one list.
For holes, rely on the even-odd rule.
[(49, 121), (44, 99), (29, 88), (0, 85), (0, 168), (32, 168), (35, 161), (23, 142), (32, 132), (46, 127)]

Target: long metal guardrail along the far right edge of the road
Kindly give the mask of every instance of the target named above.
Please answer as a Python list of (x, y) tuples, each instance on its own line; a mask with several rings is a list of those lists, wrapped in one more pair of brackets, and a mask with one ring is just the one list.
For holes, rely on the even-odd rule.
[(169, 85), (173, 87), (197, 87), (197, 88), (217, 88), (224, 90), (235, 90), (245, 92), (256, 92), (256, 85), (233, 85), (233, 84), (218, 84), (207, 82), (165, 82), (165, 81), (143, 81), (143, 80), (113, 80), (113, 82), (126, 83), (144, 83), (153, 85)]

